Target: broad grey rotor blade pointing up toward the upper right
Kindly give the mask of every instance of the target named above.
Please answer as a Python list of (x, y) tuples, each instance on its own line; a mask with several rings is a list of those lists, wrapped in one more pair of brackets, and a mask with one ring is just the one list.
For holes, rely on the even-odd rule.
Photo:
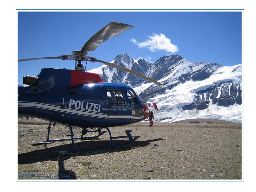
[(124, 23), (111, 22), (104, 28), (100, 29), (94, 36), (92, 36), (82, 47), (80, 54), (86, 51), (94, 51), (100, 44), (108, 39), (120, 35), (122, 32), (132, 28), (133, 26)]

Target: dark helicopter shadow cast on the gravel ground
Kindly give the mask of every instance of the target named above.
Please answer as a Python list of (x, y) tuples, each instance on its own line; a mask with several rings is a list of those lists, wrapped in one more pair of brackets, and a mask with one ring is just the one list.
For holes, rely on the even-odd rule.
[[(124, 147), (124, 148), (113, 148), (113, 149), (99, 149), (99, 150), (92, 150), (92, 151), (84, 151), (78, 154), (73, 155), (60, 155), (56, 151), (62, 150), (70, 150), (72, 148), (72, 144), (64, 144), (54, 147), (48, 147), (47, 145), (51, 144), (43, 144), (44, 149), (36, 149), (31, 152), (18, 154), (18, 164), (33, 164), (36, 162), (44, 162), (44, 161), (58, 161), (59, 165), (59, 179), (76, 179), (76, 173), (72, 170), (66, 170), (64, 161), (73, 157), (73, 156), (86, 156), (86, 155), (96, 155), (96, 154), (103, 154), (103, 153), (113, 153), (113, 152), (121, 152), (127, 151), (135, 148), (145, 147), (149, 145), (151, 142), (155, 142), (158, 140), (164, 140), (162, 138), (154, 139), (154, 140), (146, 140), (146, 141), (134, 141), (132, 146)], [(124, 144), (127, 140), (118, 140), (115, 141), (115, 144)], [(100, 146), (109, 146), (110, 141), (107, 140), (86, 140), (75, 143), (76, 149), (81, 148), (92, 148), (93, 147), (100, 147)], [(32, 146), (36, 146), (38, 144), (32, 144)], [(61, 175), (65, 175), (66, 177), (61, 177)], [(68, 177), (67, 177), (68, 176)]]

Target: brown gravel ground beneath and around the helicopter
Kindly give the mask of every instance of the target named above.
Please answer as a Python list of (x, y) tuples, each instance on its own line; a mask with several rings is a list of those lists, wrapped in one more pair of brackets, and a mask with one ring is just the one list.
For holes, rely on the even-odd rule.
[[(47, 137), (48, 122), (18, 120), (18, 180), (241, 180), (241, 124), (193, 119), (175, 123), (136, 123), (111, 127), (112, 136), (132, 129), (140, 136), (131, 147), (59, 155), (71, 141), (38, 145)], [(74, 136), (82, 130), (74, 128)], [(67, 138), (69, 128), (52, 126), (50, 139)], [(127, 138), (118, 139), (124, 143)], [(75, 141), (79, 148), (109, 145), (105, 133), (98, 140)], [(61, 177), (62, 176), (62, 177)], [(66, 177), (64, 177), (66, 176)]]

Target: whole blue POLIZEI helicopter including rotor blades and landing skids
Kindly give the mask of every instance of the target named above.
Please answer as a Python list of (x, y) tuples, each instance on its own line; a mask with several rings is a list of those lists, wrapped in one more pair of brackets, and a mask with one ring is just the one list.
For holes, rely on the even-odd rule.
[[(42, 68), (37, 76), (27, 75), (23, 77), (23, 84), (28, 86), (18, 87), (18, 115), (33, 116), (50, 122), (47, 139), (36, 143), (48, 144), (71, 140), (72, 149), (57, 151), (60, 154), (76, 154), (95, 149), (121, 148), (130, 146), (140, 136), (133, 137), (131, 135), (132, 130), (126, 130), (126, 136), (112, 137), (109, 127), (132, 124), (148, 118), (150, 124), (153, 124), (150, 117), (154, 109), (158, 110), (156, 103), (153, 103), (154, 108), (151, 109), (150, 104), (145, 103), (134, 92), (132, 87), (124, 84), (103, 82), (100, 75), (85, 72), (82, 64), (84, 61), (86, 61), (86, 64), (87, 61), (100, 62), (107, 66), (127, 71), (155, 84), (163, 85), (130, 69), (87, 55), (88, 52), (94, 51), (108, 39), (120, 35), (132, 27), (124, 23), (110, 22), (93, 35), (80, 51), (73, 51), (71, 55), (18, 60), (18, 62), (41, 59), (75, 60), (75, 70)], [(54, 126), (56, 122), (66, 124), (70, 129), (71, 138), (51, 140), (52, 122)], [(81, 137), (74, 137), (73, 126), (82, 127)], [(107, 131), (102, 131), (102, 129)], [(97, 135), (84, 136), (89, 132), (96, 132)], [(96, 139), (105, 132), (109, 133), (110, 146), (76, 149), (75, 140)], [(121, 145), (114, 144), (113, 139), (120, 138), (128, 138), (130, 141)]]

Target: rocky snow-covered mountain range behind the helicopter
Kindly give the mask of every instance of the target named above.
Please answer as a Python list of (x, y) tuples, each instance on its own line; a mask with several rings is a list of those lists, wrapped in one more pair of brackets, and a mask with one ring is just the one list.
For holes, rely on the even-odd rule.
[(140, 97), (156, 102), (158, 122), (188, 118), (216, 118), (242, 121), (242, 66), (192, 63), (180, 55), (163, 56), (155, 63), (133, 60), (127, 53), (111, 63), (129, 68), (164, 84), (159, 86), (125, 71), (102, 65), (88, 72), (98, 73), (104, 82), (130, 85)]

